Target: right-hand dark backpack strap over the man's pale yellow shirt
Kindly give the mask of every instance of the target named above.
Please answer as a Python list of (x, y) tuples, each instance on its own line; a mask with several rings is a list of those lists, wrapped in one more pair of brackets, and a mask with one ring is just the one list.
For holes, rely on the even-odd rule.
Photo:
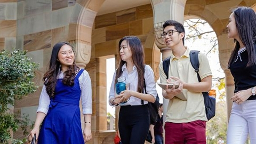
[(189, 57), (190, 57), (190, 63), (192, 65), (192, 67), (195, 69), (196, 74), (197, 74), (197, 78), (198, 78), (198, 82), (201, 82), (201, 78), (199, 76), (199, 59), (198, 59), (198, 53), (199, 51), (196, 50), (192, 50), (189, 53)]

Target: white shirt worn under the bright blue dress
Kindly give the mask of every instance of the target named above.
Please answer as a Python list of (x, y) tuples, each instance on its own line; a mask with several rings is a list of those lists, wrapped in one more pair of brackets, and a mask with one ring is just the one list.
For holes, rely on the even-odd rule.
[[(60, 71), (58, 78), (63, 78), (63, 72)], [(79, 86), (81, 89), (82, 109), (83, 114), (92, 114), (92, 85), (89, 73), (84, 70), (81, 76), (78, 78)], [(45, 85), (43, 86), (37, 112), (40, 111), (47, 114), (50, 105), (50, 97), (46, 92)]]

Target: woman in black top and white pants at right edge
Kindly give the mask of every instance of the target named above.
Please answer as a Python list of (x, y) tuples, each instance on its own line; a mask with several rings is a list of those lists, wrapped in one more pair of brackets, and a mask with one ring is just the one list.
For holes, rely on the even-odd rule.
[(236, 7), (229, 17), (228, 38), (233, 38), (228, 68), (235, 90), (230, 113), (227, 143), (245, 143), (249, 135), (256, 143), (256, 14), (251, 7)]

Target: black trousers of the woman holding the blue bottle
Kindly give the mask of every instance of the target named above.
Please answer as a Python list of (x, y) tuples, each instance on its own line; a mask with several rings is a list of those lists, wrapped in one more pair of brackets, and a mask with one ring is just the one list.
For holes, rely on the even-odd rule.
[(119, 133), (123, 144), (143, 144), (150, 125), (148, 105), (121, 106), (119, 111)]

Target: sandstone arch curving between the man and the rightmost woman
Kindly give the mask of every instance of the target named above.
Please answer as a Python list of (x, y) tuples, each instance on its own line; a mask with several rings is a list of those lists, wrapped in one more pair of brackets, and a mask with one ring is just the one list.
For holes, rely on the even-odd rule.
[(229, 114), (229, 109), (231, 109), (232, 104), (228, 101), (228, 99), (229, 99), (229, 95), (233, 91), (232, 87), (234, 86), (234, 83), (231, 82), (231, 80), (233, 81), (233, 79), (231, 79), (230, 77), (230, 71), (227, 69), (228, 57), (231, 52), (231, 47), (230, 47), (231, 44), (228, 43), (230, 41), (228, 41), (227, 32), (226, 32), (226, 24), (228, 23), (229, 13), (228, 12), (226, 13), (225, 18), (220, 19), (220, 15), (214, 14), (214, 12), (212, 12), (212, 10), (210, 10), (210, 8), (206, 7), (205, 5), (188, 4), (186, 5), (186, 8), (185, 8), (185, 16), (189, 17), (190, 15), (203, 18), (205, 21), (209, 23), (209, 25), (212, 27), (212, 29), (215, 31), (215, 34), (217, 35), (220, 67), (226, 74), (225, 83), (226, 83), (226, 95), (227, 95), (226, 99), (227, 99), (227, 105), (228, 105), (227, 114)]

